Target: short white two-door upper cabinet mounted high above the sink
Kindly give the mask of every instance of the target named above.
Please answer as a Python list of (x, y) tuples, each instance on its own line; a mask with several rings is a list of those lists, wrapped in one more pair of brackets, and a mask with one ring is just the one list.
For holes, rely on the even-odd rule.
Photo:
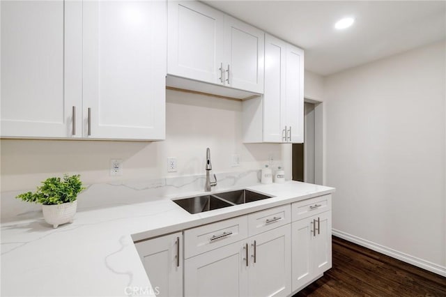
[(167, 73), (263, 93), (263, 31), (197, 1), (169, 1)]

